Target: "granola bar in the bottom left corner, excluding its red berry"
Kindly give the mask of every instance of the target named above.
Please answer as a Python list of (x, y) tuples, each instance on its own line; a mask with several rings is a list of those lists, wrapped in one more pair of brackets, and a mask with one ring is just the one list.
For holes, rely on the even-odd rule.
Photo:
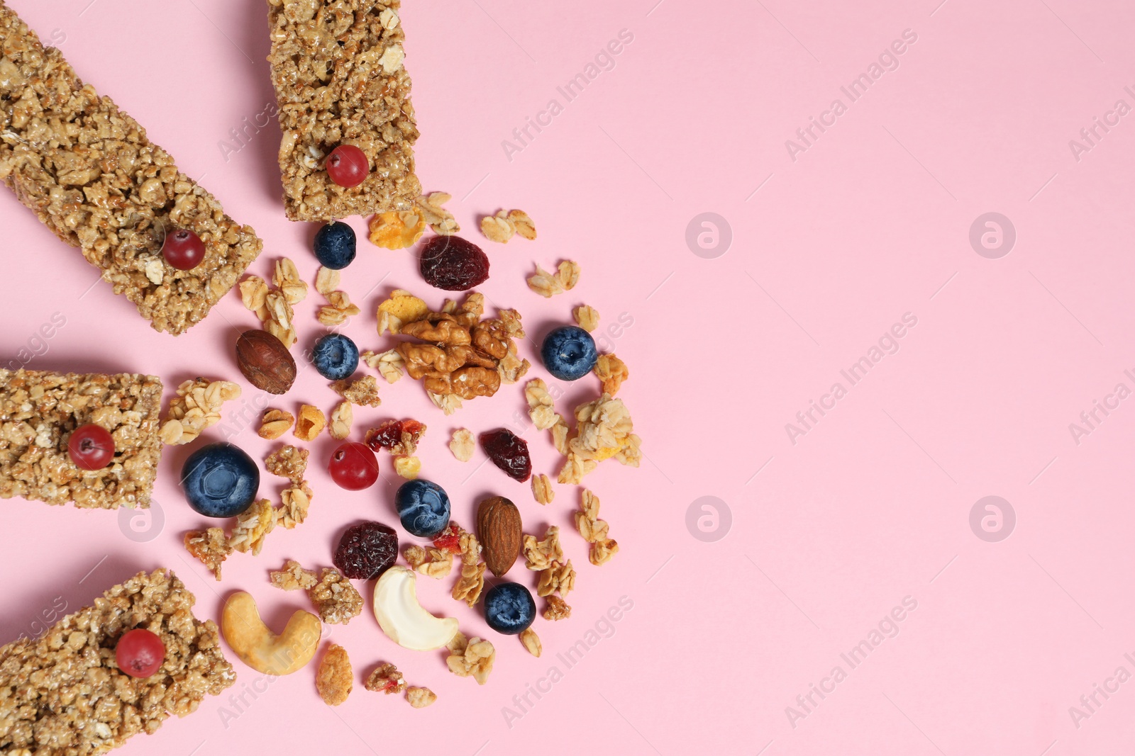
[[(138, 572), (42, 637), (0, 647), (0, 753), (103, 754), (232, 686), (217, 625), (193, 617), (194, 601), (173, 572)], [(136, 627), (166, 646), (149, 678), (128, 677), (115, 661), (118, 638)]]

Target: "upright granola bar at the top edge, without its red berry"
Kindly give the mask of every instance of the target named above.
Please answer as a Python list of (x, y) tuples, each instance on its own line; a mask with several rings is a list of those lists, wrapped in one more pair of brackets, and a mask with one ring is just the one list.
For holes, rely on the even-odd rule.
[[(279, 103), (284, 206), (294, 221), (410, 210), (418, 138), (400, 0), (268, 0), (272, 85)], [(323, 159), (352, 144), (370, 163), (354, 188), (330, 180)]]

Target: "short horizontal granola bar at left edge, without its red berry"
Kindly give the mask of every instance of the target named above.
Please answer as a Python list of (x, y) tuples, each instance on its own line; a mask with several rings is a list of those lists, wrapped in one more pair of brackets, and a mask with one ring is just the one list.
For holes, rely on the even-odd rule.
[[(161, 457), (160, 408), (153, 375), (0, 369), (0, 499), (148, 508)], [(72, 432), (87, 423), (115, 440), (115, 459), (100, 470), (79, 469), (67, 451)]]

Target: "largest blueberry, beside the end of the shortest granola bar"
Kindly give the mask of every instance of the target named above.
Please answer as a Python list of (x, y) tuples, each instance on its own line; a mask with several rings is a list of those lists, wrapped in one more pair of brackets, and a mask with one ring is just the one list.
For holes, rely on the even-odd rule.
[(259, 487), (257, 464), (230, 443), (201, 447), (182, 465), (182, 491), (190, 507), (205, 517), (243, 513), (255, 501)]

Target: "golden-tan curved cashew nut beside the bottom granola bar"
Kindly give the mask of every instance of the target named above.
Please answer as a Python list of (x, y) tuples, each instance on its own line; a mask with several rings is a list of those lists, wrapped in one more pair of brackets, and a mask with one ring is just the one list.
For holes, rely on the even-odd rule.
[(322, 626), (311, 612), (297, 610), (276, 635), (257, 611), (251, 594), (238, 591), (225, 602), (220, 617), (225, 640), (241, 661), (264, 674), (291, 674), (310, 662), (319, 647)]

